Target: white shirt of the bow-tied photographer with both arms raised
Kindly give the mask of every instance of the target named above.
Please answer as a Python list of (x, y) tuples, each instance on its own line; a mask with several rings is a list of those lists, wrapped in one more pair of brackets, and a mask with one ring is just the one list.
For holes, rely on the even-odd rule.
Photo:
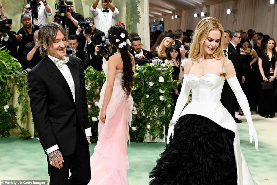
[(99, 8), (93, 9), (92, 5), (90, 7), (90, 11), (95, 19), (96, 29), (103, 31), (105, 33), (105, 37), (108, 38), (108, 30), (115, 24), (115, 19), (117, 18), (119, 12), (117, 7), (115, 7), (114, 12), (112, 12), (111, 9), (108, 9), (109, 12), (103, 12), (103, 10), (103, 8), (101, 10)]

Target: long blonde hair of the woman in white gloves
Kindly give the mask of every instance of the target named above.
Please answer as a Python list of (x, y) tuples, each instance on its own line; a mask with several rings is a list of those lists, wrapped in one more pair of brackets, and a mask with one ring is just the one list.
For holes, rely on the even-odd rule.
[(189, 49), (189, 57), (193, 58), (194, 60), (199, 60), (202, 57), (202, 53), (204, 52), (203, 45), (205, 43), (205, 40), (208, 37), (208, 34), (212, 30), (219, 30), (221, 33), (220, 41), (219, 41), (219, 46), (217, 49), (213, 52), (211, 55), (211, 58), (213, 59), (223, 59), (226, 61), (226, 57), (223, 54), (223, 39), (224, 39), (224, 30), (216, 18), (213, 17), (206, 17), (200, 22), (198, 22), (197, 27), (195, 31), (193, 32), (193, 37), (192, 37), (192, 45)]

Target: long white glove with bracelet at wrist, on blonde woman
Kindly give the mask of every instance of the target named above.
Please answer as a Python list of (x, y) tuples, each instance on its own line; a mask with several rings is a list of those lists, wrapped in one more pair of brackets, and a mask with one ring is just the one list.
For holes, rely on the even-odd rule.
[(185, 107), (185, 104), (187, 103), (187, 98), (189, 96), (189, 91), (190, 91), (190, 86), (187, 84), (187, 77), (188, 75), (184, 74), (184, 79), (183, 79), (183, 84), (181, 88), (181, 93), (177, 99), (176, 105), (175, 105), (175, 110), (172, 116), (172, 119), (170, 121), (169, 127), (168, 127), (168, 133), (167, 133), (167, 144), (169, 144), (169, 138), (170, 136), (173, 139), (174, 135), (174, 124), (171, 123), (176, 123), (177, 120), (179, 119), (179, 116), (182, 112), (182, 110)]

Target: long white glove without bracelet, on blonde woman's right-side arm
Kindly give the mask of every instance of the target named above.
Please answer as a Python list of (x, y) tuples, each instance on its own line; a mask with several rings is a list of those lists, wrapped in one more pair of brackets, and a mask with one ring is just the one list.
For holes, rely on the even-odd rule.
[(250, 143), (252, 143), (253, 137), (254, 137), (255, 149), (258, 150), (258, 135), (253, 124), (247, 98), (243, 93), (240, 83), (238, 82), (238, 79), (236, 76), (233, 76), (227, 79), (227, 82), (232, 88), (233, 92), (235, 93), (238, 104), (240, 105), (240, 108), (242, 109), (243, 114), (245, 115), (245, 118), (247, 120), (248, 127), (249, 127)]

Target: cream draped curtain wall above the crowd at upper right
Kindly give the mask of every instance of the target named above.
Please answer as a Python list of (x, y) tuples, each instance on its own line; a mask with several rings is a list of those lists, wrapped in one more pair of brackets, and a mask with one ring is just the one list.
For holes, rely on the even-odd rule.
[[(227, 9), (234, 10), (234, 14), (227, 15)], [(235, 0), (211, 5), (194, 10), (185, 10), (179, 19), (171, 20), (171, 16), (166, 17), (165, 31), (171, 29), (175, 31), (181, 28), (195, 29), (202, 17), (194, 18), (194, 13), (209, 12), (207, 16), (217, 18), (224, 29), (234, 31), (253, 29), (256, 32), (270, 35), (277, 40), (277, 3), (270, 4), (270, 0)], [(232, 23), (232, 17), (234, 22)]]

